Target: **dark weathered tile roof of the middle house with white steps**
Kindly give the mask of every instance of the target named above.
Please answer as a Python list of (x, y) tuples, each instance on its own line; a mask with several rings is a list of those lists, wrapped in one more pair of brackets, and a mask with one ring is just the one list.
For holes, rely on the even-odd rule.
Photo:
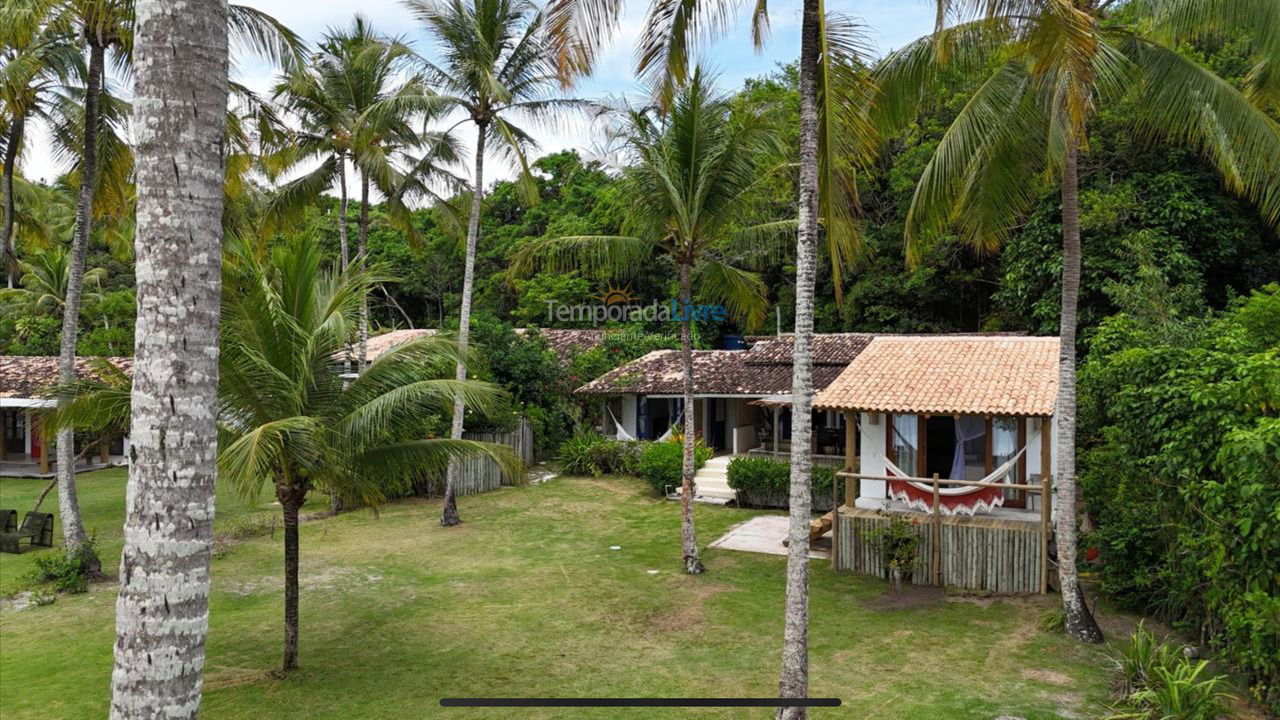
[[(814, 336), (813, 384), (824, 388), (840, 375), (845, 361), (865, 347), (872, 336)], [(680, 395), (684, 379), (678, 350), (655, 350), (580, 387), (582, 395)], [(755, 338), (750, 350), (695, 350), (696, 395), (781, 395), (791, 392), (790, 338)]]

